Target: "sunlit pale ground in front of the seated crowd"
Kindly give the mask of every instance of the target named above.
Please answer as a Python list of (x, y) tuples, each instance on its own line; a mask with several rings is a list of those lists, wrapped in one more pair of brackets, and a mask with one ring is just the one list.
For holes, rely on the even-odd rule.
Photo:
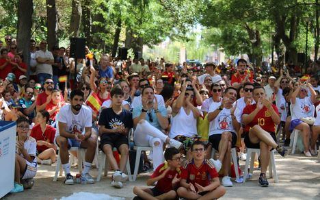
[[(244, 168), (244, 162), (240, 164), (241, 168)], [(232, 188), (227, 188), (226, 195), (222, 199), (320, 199), (320, 158), (306, 158), (302, 154), (288, 155), (286, 158), (276, 155), (276, 167), (280, 183), (274, 184), (274, 180), (269, 179), (269, 188), (261, 188), (258, 186), (260, 172), (254, 171), (252, 179), (245, 184), (235, 183)], [(148, 174), (139, 175), (135, 182), (126, 182), (122, 189), (112, 188), (109, 177), (103, 177), (101, 182), (93, 185), (66, 186), (63, 184), (63, 177), (53, 182), (54, 171), (55, 164), (39, 166), (36, 184), (31, 190), (7, 195), (4, 199), (59, 199), (81, 191), (132, 199), (133, 186), (145, 186), (148, 178)], [(72, 169), (72, 174), (75, 173), (77, 170)], [(97, 170), (92, 170), (91, 174), (96, 176)]]

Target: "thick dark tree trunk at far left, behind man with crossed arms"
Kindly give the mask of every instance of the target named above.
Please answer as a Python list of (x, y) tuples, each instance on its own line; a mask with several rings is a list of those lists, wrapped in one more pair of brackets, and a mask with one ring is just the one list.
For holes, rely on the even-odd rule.
[[(30, 38), (32, 27), (32, 13), (34, 3), (32, 0), (19, 0), (18, 3), (18, 34), (16, 37), (19, 49), (23, 51), (24, 62), (30, 71)], [(29, 77), (29, 73), (27, 74)]]

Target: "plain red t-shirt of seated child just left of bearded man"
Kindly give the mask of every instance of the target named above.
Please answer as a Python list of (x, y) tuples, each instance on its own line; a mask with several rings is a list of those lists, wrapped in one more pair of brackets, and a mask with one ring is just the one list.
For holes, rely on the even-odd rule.
[[(53, 140), (55, 139), (55, 128), (51, 127), (51, 125), (46, 125), (46, 130), (44, 131), (44, 133), (42, 133), (40, 125), (35, 125), (31, 129), (30, 136), (32, 138), (35, 138), (37, 141), (42, 140), (42, 141), (46, 141), (53, 144)], [(42, 145), (42, 146), (37, 145), (37, 150), (39, 153), (41, 153), (46, 149), (49, 149), (49, 147), (46, 147), (45, 145)]]

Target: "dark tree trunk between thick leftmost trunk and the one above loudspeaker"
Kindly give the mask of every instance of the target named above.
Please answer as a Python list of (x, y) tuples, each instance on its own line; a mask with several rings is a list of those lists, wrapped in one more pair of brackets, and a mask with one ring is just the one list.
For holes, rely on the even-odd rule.
[(58, 17), (57, 8), (55, 7), (55, 0), (46, 0), (46, 21), (48, 23), (48, 31), (46, 41), (48, 42), (48, 49), (51, 50), (52, 47), (59, 44), (57, 38), (58, 29)]

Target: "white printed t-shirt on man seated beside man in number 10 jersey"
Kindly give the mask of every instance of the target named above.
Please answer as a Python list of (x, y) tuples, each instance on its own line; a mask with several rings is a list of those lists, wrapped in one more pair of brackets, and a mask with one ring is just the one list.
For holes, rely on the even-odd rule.
[[(209, 113), (217, 110), (217, 108), (219, 108), (220, 105), (221, 102), (211, 103)], [(226, 108), (222, 109), (222, 111), (220, 111), (219, 114), (209, 124), (209, 136), (215, 134), (222, 134), (223, 132), (236, 133), (235, 128), (232, 125), (230, 109)]]

